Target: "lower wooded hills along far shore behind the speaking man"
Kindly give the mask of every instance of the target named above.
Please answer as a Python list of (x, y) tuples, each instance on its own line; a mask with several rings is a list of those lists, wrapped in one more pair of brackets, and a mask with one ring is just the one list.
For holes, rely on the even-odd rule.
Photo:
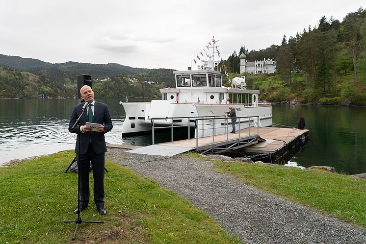
[[(94, 79), (93, 90), (99, 98), (161, 97), (159, 89), (175, 83), (172, 71), (155, 69), (146, 73), (112, 76), (102, 79), (103, 81)], [(75, 78), (55, 81), (44, 75), (0, 66), (0, 98), (38, 98), (39, 95), (47, 98), (73, 98), (77, 94)], [(132, 78), (135, 78), (134, 82), (131, 81)], [(155, 84), (146, 81), (154, 81)]]

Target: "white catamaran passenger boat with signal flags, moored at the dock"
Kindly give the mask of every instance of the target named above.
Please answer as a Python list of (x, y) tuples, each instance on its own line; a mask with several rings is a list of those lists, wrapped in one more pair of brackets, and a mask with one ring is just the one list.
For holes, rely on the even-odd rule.
[[(176, 88), (160, 89), (162, 100), (151, 102), (120, 102), (122, 103), (126, 119), (122, 126), (122, 136), (143, 131), (152, 131), (154, 126), (176, 125), (195, 126), (195, 119), (207, 118), (211, 120), (198, 121), (202, 128), (212, 128), (215, 123), (217, 133), (224, 133), (223, 125), (227, 124), (225, 112), (229, 106), (233, 106), (237, 117), (236, 129), (250, 123), (252, 126), (271, 126), (272, 107), (270, 103), (259, 102), (259, 91), (246, 89), (245, 77), (235, 77), (233, 87), (222, 84), (222, 73), (214, 71), (214, 50), (217, 50), (212, 38), (212, 55), (207, 55), (209, 60), (204, 62), (202, 69), (175, 71)], [(230, 98), (230, 104), (222, 104), (221, 101)], [(215, 118), (216, 119), (213, 119)], [(165, 118), (165, 119), (164, 119)], [(229, 120), (230, 123), (230, 120)], [(230, 126), (230, 125), (229, 125)], [(201, 128), (201, 127), (200, 127)], [(231, 128), (230, 128), (231, 129)], [(205, 133), (204, 133), (205, 131)], [(212, 130), (200, 130), (195, 134), (198, 137), (211, 134)]]

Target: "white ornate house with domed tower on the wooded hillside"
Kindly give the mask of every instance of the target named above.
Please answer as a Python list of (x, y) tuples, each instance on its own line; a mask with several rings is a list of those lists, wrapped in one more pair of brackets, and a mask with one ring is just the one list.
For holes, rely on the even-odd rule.
[(263, 59), (261, 61), (248, 62), (244, 53), (239, 56), (240, 73), (274, 73), (276, 71), (277, 61), (272, 59)]

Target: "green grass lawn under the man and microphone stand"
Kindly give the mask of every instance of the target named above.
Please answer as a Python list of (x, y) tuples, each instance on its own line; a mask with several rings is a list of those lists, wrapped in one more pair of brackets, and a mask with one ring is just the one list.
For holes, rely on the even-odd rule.
[[(77, 206), (77, 177), (63, 173), (72, 151), (0, 168), (0, 243), (70, 243)], [(91, 201), (82, 220), (81, 243), (241, 243), (209, 215), (156, 182), (106, 161), (101, 216)], [(92, 177), (91, 177), (92, 185)], [(93, 199), (91, 191), (91, 199)]]

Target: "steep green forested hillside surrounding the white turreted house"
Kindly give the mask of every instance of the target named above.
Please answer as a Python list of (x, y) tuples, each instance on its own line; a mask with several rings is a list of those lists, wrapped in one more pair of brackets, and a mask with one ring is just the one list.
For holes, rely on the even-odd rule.
[(366, 10), (362, 8), (342, 22), (323, 16), (313, 28), (289, 38), (284, 35), (281, 46), (250, 52), (241, 47), (224, 60), (225, 67), (220, 64), (231, 77), (239, 75), (241, 53), (249, 61), (277, 60), (277, 75), (246, 74), (252, 88), (261, 89), (270, 101), (366, 104)]

